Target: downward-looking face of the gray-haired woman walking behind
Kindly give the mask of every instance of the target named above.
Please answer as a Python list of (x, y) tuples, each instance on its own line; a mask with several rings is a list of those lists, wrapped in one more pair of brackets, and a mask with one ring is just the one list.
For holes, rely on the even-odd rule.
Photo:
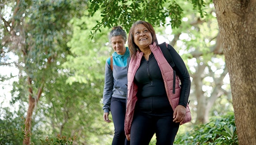
[(113, 36), (111, 38), (111, 45), (117, 54), (123, 55), (126, 51), (124, 38), (122, 36)]

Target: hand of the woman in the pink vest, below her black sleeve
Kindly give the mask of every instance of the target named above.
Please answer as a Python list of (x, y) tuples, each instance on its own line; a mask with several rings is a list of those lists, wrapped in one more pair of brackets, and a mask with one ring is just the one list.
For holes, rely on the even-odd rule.
[(186, 108), (183, 105), (177, 105), (173, 112), (173, 122), (182, 123), (186, 116)]

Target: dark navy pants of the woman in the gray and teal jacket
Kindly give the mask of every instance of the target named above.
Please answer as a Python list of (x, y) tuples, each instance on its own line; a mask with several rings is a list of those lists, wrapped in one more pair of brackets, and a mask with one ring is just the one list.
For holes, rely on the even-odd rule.
[(126, 99), (111, 98), (110, 111), (115, 127), (112, 145), (129, 145), (124, 133), (124, 118), (126, 111)]

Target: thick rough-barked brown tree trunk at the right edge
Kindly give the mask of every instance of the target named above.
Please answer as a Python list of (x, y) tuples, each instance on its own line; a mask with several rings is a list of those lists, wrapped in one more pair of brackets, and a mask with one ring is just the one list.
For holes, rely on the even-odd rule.
[(213, 0), (240, 145), (256, 142), (256, 0)]

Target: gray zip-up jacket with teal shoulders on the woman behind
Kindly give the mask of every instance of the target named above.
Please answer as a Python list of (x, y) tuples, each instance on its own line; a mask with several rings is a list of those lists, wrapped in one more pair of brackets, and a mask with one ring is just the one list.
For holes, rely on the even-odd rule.
[(103, 90), (103, 110), (110, 111), (111, 97), (126, 99), (127, 94), (127, 58), (130, 56), (128, 47), (123, 55), (114, 52), (113, 71), (110, 67), (110, 57), (105, 63), (105, 84)]

